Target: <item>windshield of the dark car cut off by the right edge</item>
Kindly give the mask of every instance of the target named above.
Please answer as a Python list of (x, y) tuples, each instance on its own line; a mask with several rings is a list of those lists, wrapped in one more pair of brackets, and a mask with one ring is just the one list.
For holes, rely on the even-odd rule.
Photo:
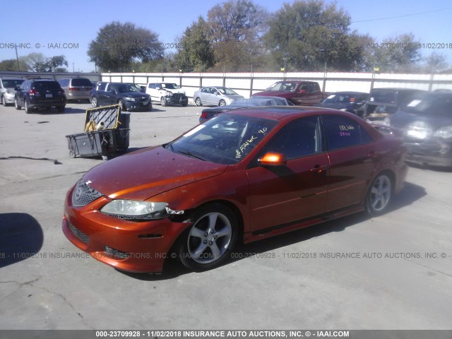
[(447, 115), (452, 117), (452, 95), (423, 95), (403, 107), (405, 112), (418, 115)]

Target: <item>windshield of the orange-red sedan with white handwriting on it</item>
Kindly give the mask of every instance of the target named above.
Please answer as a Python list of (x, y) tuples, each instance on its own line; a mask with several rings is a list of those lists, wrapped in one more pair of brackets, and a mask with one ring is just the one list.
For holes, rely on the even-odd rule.
[(276, 124), (277, 121), (270, 119), (221, 114), (196, 126), (165, 148), (189, 157), (233, 165), (261, 143)]

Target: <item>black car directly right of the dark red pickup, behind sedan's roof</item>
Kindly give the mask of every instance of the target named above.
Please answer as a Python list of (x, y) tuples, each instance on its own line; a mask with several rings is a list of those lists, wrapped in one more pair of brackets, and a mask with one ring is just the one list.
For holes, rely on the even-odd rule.
[(363, 92), (336, 92), (328, 95), (328, 97), (314, 106), (339, 109), (362, 116), (368, 97), (369, 93)]

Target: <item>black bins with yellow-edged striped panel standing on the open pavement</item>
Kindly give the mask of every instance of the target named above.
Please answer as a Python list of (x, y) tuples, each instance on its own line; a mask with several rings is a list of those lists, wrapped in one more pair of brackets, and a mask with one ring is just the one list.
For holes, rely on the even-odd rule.
[(85, 132), (66, 136), (70, 157), (102, 156), (107, 160), (129, 148), (130, 114), (119, 105), (86, 110)]

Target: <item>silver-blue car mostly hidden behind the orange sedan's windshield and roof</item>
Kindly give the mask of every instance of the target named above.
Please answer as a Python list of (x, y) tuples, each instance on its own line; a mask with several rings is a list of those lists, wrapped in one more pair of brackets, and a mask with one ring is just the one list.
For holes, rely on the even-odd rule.
[(288, 102), (283, 97), (250, 97), (249, 99), (234, 100), (231, 105), (223, 105), (212, 108), (205, 108), (199, 117), (199, 123), (216, 117), (218, 114), (230, 111), (232, 109), (256, 106), (293, 106), (292, 102)]

